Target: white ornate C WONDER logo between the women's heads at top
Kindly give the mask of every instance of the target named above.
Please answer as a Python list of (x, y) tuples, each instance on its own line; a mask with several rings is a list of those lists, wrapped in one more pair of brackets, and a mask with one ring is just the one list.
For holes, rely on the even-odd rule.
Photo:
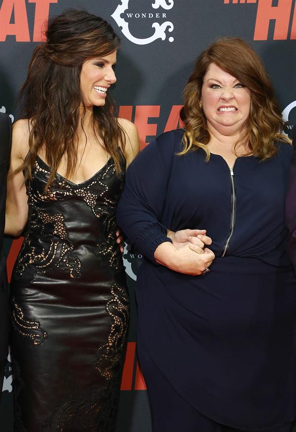
[[(123, 35), (129, 39), (131, 42), (133, 43), (137, 43), (138, 45), (146, 45), (148, 43), (153, 42), (156, 39), (161, 39), (161, 40), (165, 40), (166, 39), (166, 30), (168, 29), (169, 32), (172, 32), (174, 30), (174, 25), (172, 22), (170, 21), (165, 21), (164, 23), (162, 23), (161, 25), (154, 22), (151, 27), (154, 28), (154, 34), (152, 36), (150, 36), (149, 38), (145, 38), (145, 39), (139, 39), (139, 38), (135, 38), (131, 32), (129, 31), (129, 23), (127, 23), (124, 18), (121, 17), (121, 15), (123, 14), (123, 12), (125, 12), (128, 9), (128, 2), (129, 0), (121, 0), (121, 3), (116, 7), (115, 11), (112, 13), (111, 17), (116, 21), (118, 27), (121, 28), (121, 31), (123, 33)], [(153, 9), (158, 9), (159, 7), (162, 7), (163, 9), (169, 10), (172, 9), (172, 7), (174, 6), (174, 1), (173, 0), (154, 0), (154, 3), (151, 4), (151, 6), (153, 7)], [(129, 14), (132, 16), (132, 14)], [(137, 16), (138, 15), (138, 16)], [(141, 14), (135, 14), (136, 18), (139, 18)], [(144, 16), (143, 16), (144, 15)], [(146, 17), (146, 13), (142, 14), (142, 17)], [(155, 13), (155, 16), (157, 18), (166, 18), (166, 14), (162, 13), (160, 14)], [(152, 18), (153, 14), (152, 13), (148, 13), (148, 17)], [(169, 41), (173, 42), (174, 38), (170, 37)]]

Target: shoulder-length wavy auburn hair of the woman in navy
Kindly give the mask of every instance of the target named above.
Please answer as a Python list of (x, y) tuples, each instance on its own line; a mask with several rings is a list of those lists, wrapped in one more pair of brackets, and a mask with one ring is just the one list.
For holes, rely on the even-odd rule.
[(291, 140), (282, 133), (281, 110), (274, 98), (271, 83), (258, 55), (242, 39), (220, 38), (197, 58), (194, 70), (183, 91), (185, 105), (180, 117), (185, 123), (185, 132), (183, 150), (179, 155), (202, 148), (206, 153), (206, 160), (210, 158), (207, 144), (211, 136), (207, 119), (199, 102), (203, 78), (211, 63), (215, 63), (251, 90), (250, 115), (246, 124), (246, 132), (242, 137), (242, 140), (249, 144), (250, 154), (264, 160), (277, 153), (278, 146), (275, 141), (291, 144)]

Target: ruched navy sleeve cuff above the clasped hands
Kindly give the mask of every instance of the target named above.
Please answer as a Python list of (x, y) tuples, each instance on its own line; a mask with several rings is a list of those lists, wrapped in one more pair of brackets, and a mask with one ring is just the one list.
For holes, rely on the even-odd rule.
[(172, 240), (166, 236), (166, 233), (167, 230), (162, 224), (152, 224), (148, 228), (141, 230), (135, 242), (135, 246), (153, 264), (160, 265), (154, 258), (154, 252), (161, 243), (166, 241), (172, 243)]

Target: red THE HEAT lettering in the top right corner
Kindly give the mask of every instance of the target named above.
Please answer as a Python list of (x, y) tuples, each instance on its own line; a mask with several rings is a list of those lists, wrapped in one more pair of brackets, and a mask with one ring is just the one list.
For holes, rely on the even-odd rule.
[[(224, 4), (257, 3), (257, 17), (254, 40), (267, 40), (270, 21), (274, 20), (274, 40), (296, 39), (296, 7), (292, 11), (293, 0), (278, 0), (277, 6), (272, 0), (223, 0)], [(290, 21), (292, 23), (290, 27)]]

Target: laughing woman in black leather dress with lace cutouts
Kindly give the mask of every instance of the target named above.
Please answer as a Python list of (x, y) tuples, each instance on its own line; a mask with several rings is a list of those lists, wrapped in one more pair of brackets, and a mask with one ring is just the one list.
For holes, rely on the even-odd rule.
[(86, 11), (48, 25), (13, 127), (5, 233), (25, 238), (11, 279), (15, 430), (114, 431), (129, 301), (115, 208), (135, 126), (110, 95), (119, 38)]

